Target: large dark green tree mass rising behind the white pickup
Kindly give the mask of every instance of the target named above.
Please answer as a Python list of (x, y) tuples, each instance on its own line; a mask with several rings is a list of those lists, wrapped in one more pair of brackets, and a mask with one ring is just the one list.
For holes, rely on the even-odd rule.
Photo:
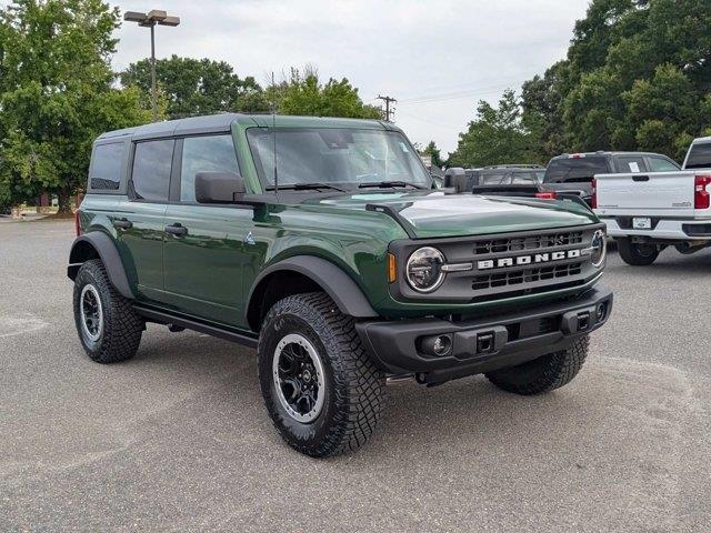
[(711, 2), (593, 0), (568, 58), (523, 86), (540, 159), (653, 150), (681, 159), (709, 132)]

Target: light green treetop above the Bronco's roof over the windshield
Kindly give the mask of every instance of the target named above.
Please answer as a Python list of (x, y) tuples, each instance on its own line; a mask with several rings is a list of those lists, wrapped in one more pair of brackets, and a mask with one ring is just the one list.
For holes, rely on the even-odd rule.
[(312, 67), (307, 67), (304, 74), (291, 69), (290, 78), (272, 88), (270, 98), (277, 100), (282, 114), (382, 119), (381, 109), (364, 104), (348, 79), (330, 78), (321, 83)]

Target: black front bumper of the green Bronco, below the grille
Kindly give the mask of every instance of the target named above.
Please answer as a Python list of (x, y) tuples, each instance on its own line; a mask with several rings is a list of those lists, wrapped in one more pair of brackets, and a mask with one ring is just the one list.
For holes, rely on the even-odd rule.
[[(611, 311), (612, 291), (597, 286), (574, 300), (494, 316), (457, 322), (437, 318), (372, 321), (356, 328), (370, 356), (385, 372), (415, 373), (424, 383), (440, 383), (565, 350), (600, 328)], [(423, 340), (437, 335), (450, 339), (447, 355), (425, 352)]]

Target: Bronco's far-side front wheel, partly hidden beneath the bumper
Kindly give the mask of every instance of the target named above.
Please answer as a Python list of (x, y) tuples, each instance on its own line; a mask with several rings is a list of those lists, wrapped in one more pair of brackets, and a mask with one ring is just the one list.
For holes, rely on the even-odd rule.
[(588, 335), (578, 339), (568, 350), (510, 369), (489, 372), (487, 378), (499, 389), (515, 394), (532, 395), (559, 389), (578, 375), (588, 356)]

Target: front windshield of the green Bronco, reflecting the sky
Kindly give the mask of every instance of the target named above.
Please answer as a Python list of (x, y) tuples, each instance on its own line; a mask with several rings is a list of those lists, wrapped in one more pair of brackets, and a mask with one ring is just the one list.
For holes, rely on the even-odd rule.
[(375, 182), (431, 185), (419, 155), (397, 131), (278, 128), (276, 142), (272, 131), (247, 130), (257, 172), (267, 188), (274, 184), (274, 144), (279, 187), (326, 183), (358, 188)]

